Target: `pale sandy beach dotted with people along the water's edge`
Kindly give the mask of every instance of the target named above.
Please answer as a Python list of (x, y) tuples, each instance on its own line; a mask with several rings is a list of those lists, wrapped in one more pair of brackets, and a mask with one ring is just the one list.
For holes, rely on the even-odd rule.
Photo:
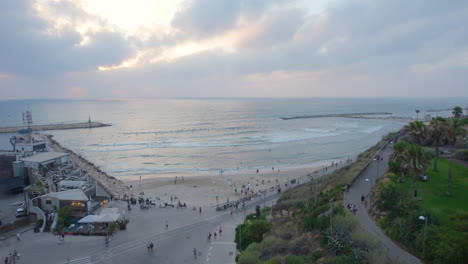
[[(355, 160), (355, 157), (353, 157)], [(188, 207), (192, 206), (216, 206), (246, 197), (245, 192), (241, 192), (242, 186), (250, 186), (248, 194), (258, 193), (259, 191), (276, 191), (276, 186), (282, 188), (285, 183), (290, 183), (296, 179), (297, 183), (306, 180), (307, 175), (314, 178), (321, 177), (346, 165), (346, 160), (335, 161), (334, 166), (331, 163), (325, 166), (321, 164), (311, 165), (306, 168), (291, 169), (265, 169), (259, 171), (244, 172), (234, 175), (219, 176), (184, 176), (184, 177), (164, 177), (164, 178), (142, 178), (125, 182), (130, 187), (129, 194), (136, 197), (144, 193), (145, 198), (155, 199), (159, 197), (161, 202), (172, 203), (174, 205), (180, 201), (186, 203)], [(336, 166), (337, 164), (337, 166)], [(173, 201), (171, 202), (171, 196)], [(218, 201), (216, 201), (218, 196)], [(177, 197), (178, 200), (175, 200)]]

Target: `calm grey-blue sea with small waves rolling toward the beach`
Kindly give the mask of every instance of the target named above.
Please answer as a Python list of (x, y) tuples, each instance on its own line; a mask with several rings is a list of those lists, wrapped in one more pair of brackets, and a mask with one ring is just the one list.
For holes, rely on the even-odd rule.
[[(253, 173), (346, 160), (404, 122), (281, 117), (390, 112), (419, 118), (449, 116), (467, 98), (99, 99), (0, 101), (0, 126), (87, 122), (109, 127), (47, 131), (101, 170), (126, 180), (177, 175)], [(432, 112), (430, 110), (445, 110)], [(13, 134), (0, 134), (11, 150)], [(276, 170), (276, 169), (275, 169)]]

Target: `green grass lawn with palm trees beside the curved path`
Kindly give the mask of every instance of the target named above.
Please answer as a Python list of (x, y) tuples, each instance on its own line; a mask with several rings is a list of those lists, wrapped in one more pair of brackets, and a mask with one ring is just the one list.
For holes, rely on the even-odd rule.
[[(432, 163), (426, 172), (429, 180), (418, 181), (418, 196), (422, 200), (419, 205), (422, 209), (435, 215), (438, 220), (449, 225), (449, 215), (458, 211), (468, 211), (468, 168), (455, 162), (452, 164), (451, 196), (446, 195), (448, 181), (447, 159), (438, 159), (438, 171), (434, 171)], [(408, 184), (411, 185), (411, 183)]]

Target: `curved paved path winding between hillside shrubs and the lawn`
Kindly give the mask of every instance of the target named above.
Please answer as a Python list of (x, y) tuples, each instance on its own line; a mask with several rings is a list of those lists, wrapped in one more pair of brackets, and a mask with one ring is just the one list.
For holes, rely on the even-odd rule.
[(369, 194), (371, 188), (375, 185), (377, 175), (380, 177), (385, 172), (385, 169), (388, 167), (389, 156), (392, 152), (392, 144), (388, 144), (382, 149), (380, 156), (383, 157), (383, 160), (372, 161), (367, 169), (361, 173), (351, 186), (349, 192), (345, 193), (344, 203), (345, 205), (350, 203), (358, 206), (356, 215), (359, 219), (359, 223), (364, 230), (374, 234), (381, 241), (382, 245), (387, 249), (387, 256), (389, 258), (394, 261), (399, 260), (406, 263), (421, 263), (418, 258), (401, 249), (395, 242), (388, 238), (371, 219), (365, 205), (361, 203), (361, 196), (367, 196)]

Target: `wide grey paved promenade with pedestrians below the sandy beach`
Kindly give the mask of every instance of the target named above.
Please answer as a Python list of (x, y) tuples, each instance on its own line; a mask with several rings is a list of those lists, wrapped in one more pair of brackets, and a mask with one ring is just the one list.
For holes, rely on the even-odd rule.
[[(266, 196), (265, 201), (258, 197), (246, 203), (245, 213), (239, 207), (233, 215), (229, 211), (217, 212), (214, 207), (204, 208), (201, 215), (189, 208), (142, 210), (134, 206), (127, 211), (125, 202), (115, 201), (112, 206), (124, 209), (131, 221), (127, 230), (117, 231), (108, 246), (101, 236), (66, 236), (65, 242), (59, 244), (58, 237), (51, 233), (28, 231), (20, 241), (14, 237), (1, 241), (0, 258), (16, 249), (21, 253), (16, 263), (235, 263), (235, 227), (256, 205), (272, 205), (278, 197), (276, 192)], [(208, 232), (214, 233), (219, 226), (222, 236), (208, 241)], [(147, 250), (148, 241), (155, 244), (152, 252)], [(197, 248), (196, 259), (193, 248)]]

